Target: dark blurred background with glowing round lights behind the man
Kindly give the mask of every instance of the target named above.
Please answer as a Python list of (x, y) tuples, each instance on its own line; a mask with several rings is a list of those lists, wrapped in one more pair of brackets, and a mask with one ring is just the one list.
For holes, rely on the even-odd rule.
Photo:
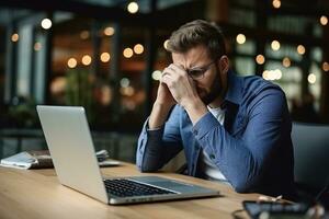
[(1, 0), (0, 158), (44, 149), (36, 104), (82, 105), (97, 150), (135, 161), (171, 62), (167, 39), (205, 19), (231, 69), (286, 93), (294, 120), (329, 123), (328, 0)]

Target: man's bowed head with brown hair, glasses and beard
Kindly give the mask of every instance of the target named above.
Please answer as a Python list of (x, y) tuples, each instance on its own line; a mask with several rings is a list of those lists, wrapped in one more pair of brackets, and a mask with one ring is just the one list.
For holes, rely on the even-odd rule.
[(229, 66), (219, 27), (202, 20), (186, 23), (172, 33), (168, 50), (173, 64), (194, 80), (202, 101), (218, 106), (226, 92)]

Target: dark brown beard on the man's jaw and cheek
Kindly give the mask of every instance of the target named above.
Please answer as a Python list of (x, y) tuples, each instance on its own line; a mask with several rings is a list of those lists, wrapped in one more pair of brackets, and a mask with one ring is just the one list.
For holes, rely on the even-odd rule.
[(223, 83), (220, 78), (220, 72), (216, 66), (216, 77), (207, 92), (205, 89), (196, 88), (200, 99), (205, 105), (213, 103), (218, 96), (222, 95)]

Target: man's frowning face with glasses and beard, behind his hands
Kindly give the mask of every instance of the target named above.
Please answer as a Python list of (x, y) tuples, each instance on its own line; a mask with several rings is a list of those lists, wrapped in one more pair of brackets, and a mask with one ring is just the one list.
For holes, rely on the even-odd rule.
[(218, 66), (220, 60), (211, 59), (205, 46), (196, 46), (184, 54), (172, 53), (172, 60), (174, 65), (181, 66), (188, 71), (205, 70), (202, 77), (193, 79), (197, 94), (204, 104), (209, 105), (222, 97), (224, 88), (223, 72)]

